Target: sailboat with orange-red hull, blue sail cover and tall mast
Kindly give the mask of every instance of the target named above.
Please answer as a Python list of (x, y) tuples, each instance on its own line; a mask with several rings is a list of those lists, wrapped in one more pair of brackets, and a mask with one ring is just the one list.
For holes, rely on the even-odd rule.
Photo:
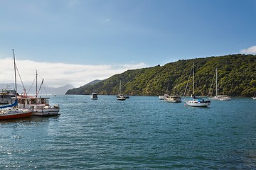
[[(14, 49), (13, 49), (14, 52)], [(15, 76), (15, 96), (16, 100), (10, 105), (0, 106), (0, 120), (16, 119), (16, 118), (27, 118), (32, 115), (31, 110), (17, 108), (17, 81), (16, 81), (16, 62), (14, 55), (14, 76)]]

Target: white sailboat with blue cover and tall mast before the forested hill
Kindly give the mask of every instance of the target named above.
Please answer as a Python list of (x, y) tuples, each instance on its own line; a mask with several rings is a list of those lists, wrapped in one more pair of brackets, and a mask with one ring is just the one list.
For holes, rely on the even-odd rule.
[[(186, 91), (185, 91), (186, 93)], [(184, 93), (184, 95), (185, 95)], [(195, 64), (193, 63), (193, 100), (183, 100), (188, 106), (192, 107), (208, 107), (210, 105), (210, 101), (205, 101), (203, 98), (197, 98), (195, 96)]]

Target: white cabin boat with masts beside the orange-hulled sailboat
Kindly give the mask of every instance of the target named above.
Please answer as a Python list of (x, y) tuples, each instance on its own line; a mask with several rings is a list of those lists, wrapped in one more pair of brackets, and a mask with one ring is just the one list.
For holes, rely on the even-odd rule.
[(24, 91), (23, 95), (17, 96), (18, 108), (31, 109), (31, 111), (33, 112), (33, 115), (39, 115), (39, 116), (60, 115), (59, 105), (55, 104), (53, 106), (50, 106), (49, 97), (38, 96), (41, 86), (43, 85), (43, 80), (38, 90), (37, 77), (38, 77), (38, 74), (36, 71), (36, 96), (28, 96), (26, 94), (26, 91)]

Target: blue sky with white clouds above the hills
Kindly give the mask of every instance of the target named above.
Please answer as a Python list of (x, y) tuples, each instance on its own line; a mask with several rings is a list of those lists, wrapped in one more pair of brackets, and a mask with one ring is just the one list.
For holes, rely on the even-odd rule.
[[(128, 69), (256, 55), (256, 0), (0, 0), (0, 84), (83, 86)], [(3, 67), (2, 67), (3, 66)]]

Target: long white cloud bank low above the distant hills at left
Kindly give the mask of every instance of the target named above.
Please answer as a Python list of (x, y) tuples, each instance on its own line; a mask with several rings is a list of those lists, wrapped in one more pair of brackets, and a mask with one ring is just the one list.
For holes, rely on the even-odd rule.
[[(14, 82), (14, 64), (11, 58), (0, 59), (4, 67), (0, 67), (0, 80), (2, 83)], [(46, 86), (60, 87), (67, 84), (79, 87), (95, 79), (107, 79), (114, 74), (120, 74), (127, 69), (139, 69), (147, 67), (146, 64), (102, 64), (82, 65), (50, 62), (34, 62), (31, 60), (16, 60), (18, 72), (23, 84), (31, 86), (38, 72), (38, 82), (44, 79)], [(18, 73), (17, 73), (18, 75)], [(18, 77), (18, 76), (17, 76)], [(21, 80), (17, 78), (18, 84)]]

